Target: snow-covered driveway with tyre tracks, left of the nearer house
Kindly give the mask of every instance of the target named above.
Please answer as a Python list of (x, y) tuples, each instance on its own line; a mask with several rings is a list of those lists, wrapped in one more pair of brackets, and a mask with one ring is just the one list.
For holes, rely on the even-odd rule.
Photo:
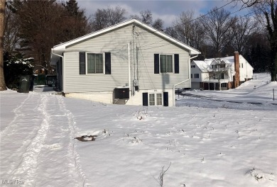
[(1, 94), (1, 185), (83, 186), (73, 135), (62, 96)]

